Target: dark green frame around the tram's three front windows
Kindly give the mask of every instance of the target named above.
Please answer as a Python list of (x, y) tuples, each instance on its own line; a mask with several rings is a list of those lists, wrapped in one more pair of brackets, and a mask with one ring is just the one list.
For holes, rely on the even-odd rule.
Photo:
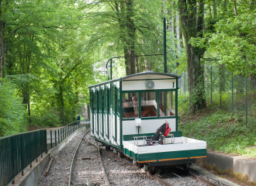
[[(141, 117), (141, 93), (142, 92), (157, 92), (157, 99), (156, 99), (156, 102), (157, 102), (157, 116), (150, 116), (150, 117)], [(160, 92), (162, 91), (174, 91), (175, 92), (175, 115), (170, 115), (170, 116), (160, 116)], [(126, 120), (135, 120), (135, 119), (171, 119), (171, 118), (177, 118), (177, 106), (178, 106), (178, 103), (177, 103), (177, 98), (178, 98), (178, 89), (157, 89), (157, 90), (136, 90), (136, 91), (121, 91), (120, 94), (123, 95), (123, 93), (133, 93), (133, 92), (138, 92), (139, 93), (139, 98), (138, 98), (138, 102), (139, 102), (139, 116), (138, 117), (134, 117), (134, 118), (123, 118), (123, 115), (120, 115), (121, 118), (122, 118), (122, 121), (126, 121)], [(121, 103), (120, 103), (121, 104)], [(122, 98), (122, 104), (123, 104), (123, 98)]]

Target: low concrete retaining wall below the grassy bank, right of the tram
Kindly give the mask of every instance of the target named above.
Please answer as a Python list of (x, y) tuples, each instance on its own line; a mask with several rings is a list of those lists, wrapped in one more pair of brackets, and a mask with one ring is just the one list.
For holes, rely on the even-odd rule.
[(216, 167), (225, 171), (227, 168), (232, 169), (237, 173), (248, 174), (251, 181), (256, 182), (256, 161), (250, 159), (239, 159), (236, 157), (225, 157), (216, 153), (207, 153), (206, 158), (201, 160), (213, 166), (216, 164)]

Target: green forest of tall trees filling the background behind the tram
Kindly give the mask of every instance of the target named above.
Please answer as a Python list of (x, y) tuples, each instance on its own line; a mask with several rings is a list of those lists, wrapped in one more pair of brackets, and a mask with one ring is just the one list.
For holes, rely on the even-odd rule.
[[(142, 71), (188, 72), (190, 115), (206, 108), (206, 65), (255, 81), (254, 0), (0, 0), (0, 136), (63, 126), (88, 86)], [(221, 76), (220, 71), (220, 76)]]

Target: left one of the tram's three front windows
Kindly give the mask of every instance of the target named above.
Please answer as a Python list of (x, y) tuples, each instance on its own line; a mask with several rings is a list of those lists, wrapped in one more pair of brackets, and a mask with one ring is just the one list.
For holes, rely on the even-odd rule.
[[(123, 93), (123, 118), (136, 118), (139, 116), (139, 93)], [(136, 101), (137, 100), (137, 101)]]

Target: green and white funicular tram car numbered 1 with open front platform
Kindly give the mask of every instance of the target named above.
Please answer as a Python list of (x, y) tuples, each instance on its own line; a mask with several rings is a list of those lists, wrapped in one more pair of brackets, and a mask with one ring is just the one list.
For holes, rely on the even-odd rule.
[[(146, 71), (89, 87), (91, 136), (150, 173), (206, 157), (206, 142), (178, 131), (178, 76)], [(159, 128), (168, 124), (167, 136)], [(158, 132), (156, 132), (158, 129)], [(158, 133), (158, 138), (153, 136)]]

